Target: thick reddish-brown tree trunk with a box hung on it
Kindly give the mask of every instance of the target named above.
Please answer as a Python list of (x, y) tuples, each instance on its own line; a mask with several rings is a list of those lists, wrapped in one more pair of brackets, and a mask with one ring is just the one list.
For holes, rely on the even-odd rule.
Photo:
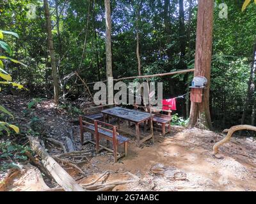
[(208, 84), (204, 89), (202, 103), (191, 103), (189, 119), (189, 126), (195, 126), (198, 118), (200, 118), (200, 122), (204, 123), (204, 126), (209, 129), (212, 129), (209, 92), (211, 79), (213, 6), (213, 0), (198, 1), (194, 76), (207, 78)]

